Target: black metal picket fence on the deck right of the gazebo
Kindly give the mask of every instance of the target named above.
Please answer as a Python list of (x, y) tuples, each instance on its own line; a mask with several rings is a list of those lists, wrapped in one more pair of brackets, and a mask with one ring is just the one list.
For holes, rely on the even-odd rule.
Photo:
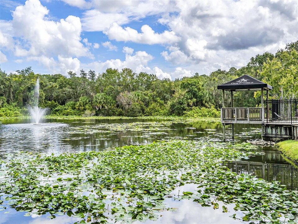
[(267, 123), (298, 123), (298, 99), (265, 100), (264, 107)]

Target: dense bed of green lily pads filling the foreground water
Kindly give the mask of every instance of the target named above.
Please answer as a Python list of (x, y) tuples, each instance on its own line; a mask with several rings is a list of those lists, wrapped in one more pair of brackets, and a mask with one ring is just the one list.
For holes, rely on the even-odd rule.
[[(231, 217), (244, 221), (278, 223), (282, 217), (296, 223), (296, 191), (224, 166), (224, 161), (253, 155), (245, 151), (252, 148), (248, 143), (171, 140), (101, 152), (22, 153), (1, 162), (0, 203), (28, 215), (67, 214), (81, 218), (80, 223), (144, 222), (172, 209), (163, 200), (173, 189), (194, 183), (197, 192), (183, 192), (182, 198), (214, 209), (218, 201), (234, 203), (244, 214)], [(225, 206), (220, 209), (228, 212)]]

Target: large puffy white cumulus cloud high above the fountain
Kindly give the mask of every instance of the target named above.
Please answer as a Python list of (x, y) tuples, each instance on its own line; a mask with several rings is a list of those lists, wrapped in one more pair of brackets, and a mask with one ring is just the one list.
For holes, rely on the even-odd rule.
[[(49, 11), (38, 0), (28, 0), (12, 12), (14, 36), (26, 42), (16, 49), (16, 56), (88, 56), (88, 48), (81, 41), (81, 22), (68, 16), (59, 22), (47, 18)], [(29, 16), (30, 15), (30, 16)]]

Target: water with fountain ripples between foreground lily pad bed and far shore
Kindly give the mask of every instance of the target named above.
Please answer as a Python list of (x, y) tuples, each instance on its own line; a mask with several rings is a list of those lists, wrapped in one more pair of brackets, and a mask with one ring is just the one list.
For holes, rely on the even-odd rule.
[[(16, 154), (20, 151), (44, 153), (97, 151), (171, 138), (222, 141), (222, 125), (219, 122), (177, 123), (149, 119), (45, 121), (47, 123), (34, 125), (30, 123), (30, 119), (2, 120), (0, 154), (4, 156), (7, 153)], [(239, 124), (235, 125), (235, 128), (235, 140), (238, 142), (260, 137), (258, 125), (249, 127)], [(227, 133), (231, 133), (231, 130), (228, 129)]]

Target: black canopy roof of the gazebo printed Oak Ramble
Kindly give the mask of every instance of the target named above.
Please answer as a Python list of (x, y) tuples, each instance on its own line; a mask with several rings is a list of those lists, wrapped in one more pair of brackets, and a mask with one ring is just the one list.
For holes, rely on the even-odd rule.
[(217, 89), (222, 90), (234, 90), (234, 91), (240, 91), (240, 90), (260, 90), (261, 88), (266, 90), (272, 90), (272, 86), (261, 82), (260, 80), (257, 80), (249, 75), (241, 76), (237, 79), (234, 79), (230, 82), (224, 83), (222, 85), (217, 86)]

